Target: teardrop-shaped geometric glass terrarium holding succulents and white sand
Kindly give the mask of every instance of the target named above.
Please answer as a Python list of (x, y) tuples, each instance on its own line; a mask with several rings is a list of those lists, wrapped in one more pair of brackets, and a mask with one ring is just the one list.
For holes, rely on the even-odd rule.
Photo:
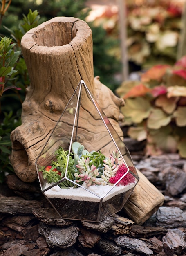
[(82, 80), (36, 160), (42, 193), (65, 219), (100, 222), (139, 177), (121, 137)]

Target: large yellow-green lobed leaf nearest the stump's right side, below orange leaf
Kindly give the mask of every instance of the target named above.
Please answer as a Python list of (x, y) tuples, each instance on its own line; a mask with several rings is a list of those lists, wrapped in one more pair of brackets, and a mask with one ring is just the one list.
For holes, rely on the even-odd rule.
[(122, 114), (130, 117), (133, 123), (141, 123), (150, 115), (150, 102), (143, 98), (137, 97), (135, 99), (126, 99), (125, 107), (122, 108)]

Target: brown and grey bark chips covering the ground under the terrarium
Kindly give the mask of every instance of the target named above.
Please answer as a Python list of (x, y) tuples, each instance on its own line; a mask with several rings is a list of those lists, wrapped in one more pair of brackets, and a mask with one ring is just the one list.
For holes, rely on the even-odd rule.
[(143, 225), (123, 211), (99, 223), (61, 219), (38, 182), (9, 175), (0, 186), (0, 255), (185, 256), (186, 159), (178, 154), (145, 157), (135, 150), (131, 154), (165, 196), (163, 206)]

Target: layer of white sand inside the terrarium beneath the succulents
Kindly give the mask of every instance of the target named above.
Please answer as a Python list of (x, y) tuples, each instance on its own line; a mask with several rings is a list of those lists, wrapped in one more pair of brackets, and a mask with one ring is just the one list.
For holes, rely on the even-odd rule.
[[(94, 185), (94, 186), (90, 186), (88, 188), (88, 191), (83, 187), (61, 189), (57, 185), (45, 191), (44, 193), (48, 198), (61, 198), (61, 199), (71, 199), (71, 200), (89, 201), (89, 202), (99, 202), (100, 198), (104, 197), (103, 198), (103, 202), (104, 202), (115, 195), (119, 195), (120, 193), (125, 193), (129, 189), (132, 189), (135, 186), (135, 184), (136, 182), (128, 184), (126, 186)], [(47, 184), (47, 186), (51, 186), (51, 184)]]

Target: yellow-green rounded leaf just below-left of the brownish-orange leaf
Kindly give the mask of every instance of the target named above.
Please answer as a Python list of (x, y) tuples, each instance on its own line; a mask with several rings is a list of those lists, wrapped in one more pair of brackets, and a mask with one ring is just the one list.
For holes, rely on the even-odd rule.
[(159, 129), (161, 126), (166, 126), (170, 123), (171, 116), (167, 115), (161, 109), (152, 109), (148, 120), (147, 127), (150, 129)]

